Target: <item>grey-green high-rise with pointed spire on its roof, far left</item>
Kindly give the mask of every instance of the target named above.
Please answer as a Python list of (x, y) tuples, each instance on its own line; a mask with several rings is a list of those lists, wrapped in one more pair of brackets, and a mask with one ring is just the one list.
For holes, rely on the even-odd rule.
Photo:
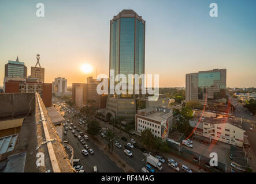
[(9, 60), (7, 64), (5, 64), (5, 78), (6, 77), (14, 77), (14, 78), (26, 78), (27, 77), (27, 67), (24, 62), (20, 62), (18, 60), (18, 56), (16, 61)]

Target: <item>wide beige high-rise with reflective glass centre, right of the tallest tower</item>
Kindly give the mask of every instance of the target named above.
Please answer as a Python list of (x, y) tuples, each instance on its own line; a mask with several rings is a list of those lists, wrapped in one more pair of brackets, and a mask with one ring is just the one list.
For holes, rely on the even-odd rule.
[(201, 104), (206, 102), (207, 105), (209, 100), (221, 96), (218, 93), (226, 89), (226, 80), (227, 70), (225, 68), (186, 74), (185, 102), (199, 101)]

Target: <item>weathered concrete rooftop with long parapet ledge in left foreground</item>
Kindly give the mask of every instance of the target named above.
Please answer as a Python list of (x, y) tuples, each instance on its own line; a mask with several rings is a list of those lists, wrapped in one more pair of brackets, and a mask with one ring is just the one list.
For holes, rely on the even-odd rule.
[[(12, 127), (7, 129), (3, 127), (0, 130), (0, 133), (10, 134), (0, 137), (0, 145), (3, 145), (0, 146), (1, 151), (4, 152), (0, 153), (0, 172), (45, 173), (48, 170), (55, 172), (56, 164), (60, 172), (73, 172), (68, 155), (55, 131), (53, 122), (47, 115), (40, 95), (36, 93), (0, 94), (0, 101), (4, 104), (0, 106), (0, 120), (2, 120), (0, 127), (1, 122), (6, 124), (6, 121), (23, 120), (21, 124), (13, 121)], [(15, 133), (9, 132), (10, 130)], [(48, 148), (49, 142), (52, 149)], [(36, 166), (38, 154), (44, 155), (44, 166)], [(55, 155), (55, 161), (52, 155)]]

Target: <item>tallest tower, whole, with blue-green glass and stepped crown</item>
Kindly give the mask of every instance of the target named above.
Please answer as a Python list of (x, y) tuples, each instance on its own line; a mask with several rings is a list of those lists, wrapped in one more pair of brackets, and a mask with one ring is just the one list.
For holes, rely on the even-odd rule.
[[(110, 21), (109, 69), (117, 74), (144, 74), (145, 21), (133, 10), (123, 10)], [(143, 85), (143, 84), (142, 84)], [(134, 89), (134, 87), (133, 87)], [(106, 118), (135, 119), (134, 94), (109, 94)]]

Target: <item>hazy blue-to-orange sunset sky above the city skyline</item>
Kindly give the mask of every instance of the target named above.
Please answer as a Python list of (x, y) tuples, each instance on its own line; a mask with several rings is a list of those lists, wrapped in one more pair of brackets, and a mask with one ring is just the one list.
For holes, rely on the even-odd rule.
[[(45, 17), (36, 17), (36, 3)], [(210, 3), (218, 17), (210, 17)], [(109, 72), (109, 21), (123, 9), (146, 20), (146, 74), (160, 87), (185, 86), (185, 74), (227, 68), (228, 87), (256, 87), (256, 1), (13, 1), (0, 0), (0, 86), (16, 57), (30, 67), (36, 54), (45, 82), (85, 82), (80, 66)]]

